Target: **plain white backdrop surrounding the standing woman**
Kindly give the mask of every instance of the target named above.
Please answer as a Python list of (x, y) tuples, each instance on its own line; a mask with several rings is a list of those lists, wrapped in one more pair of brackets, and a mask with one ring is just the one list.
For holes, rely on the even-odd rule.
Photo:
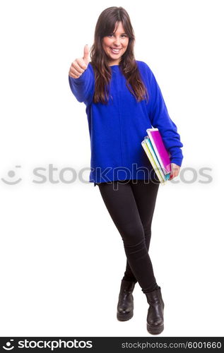
[[(150, 336), (138, 284), (134, 317), (116, 318), (126, 257), (98, 186), (88, 182), (86, 107), (69, 88), (71, 62), (93, 44), (110, 6), (128, 11), (136, 59), (155, 74), (184, 144), (183, 180), (160, 186), (152, 225), (150, 256), (165, 302), (160, 337), (223, 336), (222, 5), (1, 1), (1, 336)], [(37, 167), (45, 183), (34, 182)], [(86, 183), (63, 182), (71, 180), (71, 172), (59, 175), (66, 167), (88, 168)]]

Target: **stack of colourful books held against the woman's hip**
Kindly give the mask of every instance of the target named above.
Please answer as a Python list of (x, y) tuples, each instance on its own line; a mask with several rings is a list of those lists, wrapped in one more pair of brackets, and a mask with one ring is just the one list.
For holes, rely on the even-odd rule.
[(141, 142), (143, 149), (161, 184), (170, 178), (170, 154), (167, 152), (158, 128), (147, 128), (148, 136)]

